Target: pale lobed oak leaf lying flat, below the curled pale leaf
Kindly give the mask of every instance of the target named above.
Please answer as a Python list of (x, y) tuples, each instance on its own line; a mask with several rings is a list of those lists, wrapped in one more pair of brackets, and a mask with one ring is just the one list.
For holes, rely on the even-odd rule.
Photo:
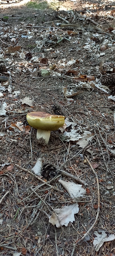
[[(57, 228), (65, 225), (68, 226), (69, 222), (75, 221), (74, 214), (79, 212), (78, 204), (70, 204), (69, 206), (62, 206), (61, 209), (54, 209), (55, 212), (49, 217), (49, 222)], [(61, 223), (61, 224), (60, 224)]]

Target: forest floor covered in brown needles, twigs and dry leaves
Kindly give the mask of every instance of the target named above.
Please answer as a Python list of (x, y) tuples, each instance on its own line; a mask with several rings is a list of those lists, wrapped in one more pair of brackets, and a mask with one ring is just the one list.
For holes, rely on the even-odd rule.
[[(6, 68), (0, 73), (9, 78), (9, 84), (1, 82), (6, 90), (0, 98), (1, 104), (5, 101), (9, 106), (0, 116), (0, 255), (115, 256), (114, 241), (104, 242), (98, 252), (93, 245), (98, 227), (107, 236), (115, 234), (115, 101), (108, 99), (111, 88), (103, 87), (104, 92), (95, 87), (102, 76), (115, 72), (115, 34), (111, 32), (115, 29), (114, 2), (54, 1), (55, 10), (51, 5), (39, 10), (37, 4), (42, 1), (35, 6), (32, 3), (29, 7), (29, 3), (1, 0), (0, 5), (0, 65)], [(61, 37), (63, 41), (57, 43)], [(100, 51), (103, 44), (104, 51)], [(20, 51), (9, 52), (8, 47), (17, 45)], [(84, 48), (86, 45), (89, 48)], [(67, 64), (73, 60), (73, 65)], [(31, 78), (28, 68), (38, 68), (38, 76)], [(50, 75), (41, 76), (41, 69), (47, 69)], [(85, 75), (83, 80), (81, 75)], [(95, 77), (93, 87), (80, 86), (87, 82), (86, 76)], [(77, 94), (66, 98), (63, 90)], [(21, 100), (25, 97), (32, 104), (24, 104)], [(51, 132), (45, 145), (36, 139), (34, 128), (26, 131), (26, 115), (31, 111), (64, 115), (76, 123), (73, 129), (81, 136), (91, 132), (92, 140), (80, 147), (76, 141), (63, 140), (64, 131), (57, 130)], [(16, 122), (21, 122), (22, 131), (11, 128)], [(70, 125), (66, 131), (71, 129)], [(31, 169), (38, 157), (42, 164), (55, 166), (58, 176), (48, 180), (35, 175)], [(82, 186), (86, 198), (78, 203), (75, 221), (56, 228), (49, 223), (54, 208), (73, 203), (58, 180), (77, 183), (75, 177), (86, 183)], [(89, 240), (78, 244), (91, 227)]]

